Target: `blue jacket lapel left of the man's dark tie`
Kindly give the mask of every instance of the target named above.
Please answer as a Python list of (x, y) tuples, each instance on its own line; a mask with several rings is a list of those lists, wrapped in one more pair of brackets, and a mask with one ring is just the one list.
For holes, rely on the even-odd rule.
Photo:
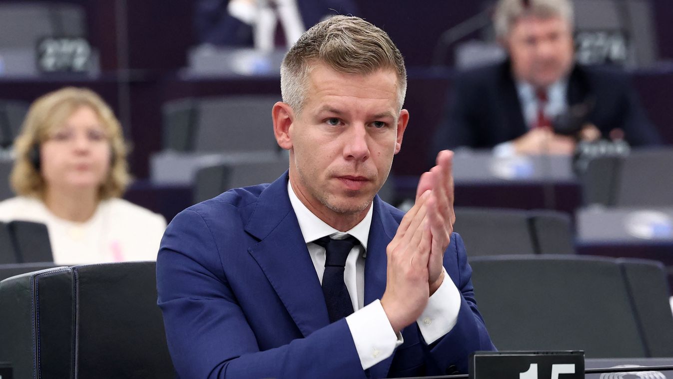
[(248, 252), (302, 335), (329, 324), (320, 280), (287, 195), (287, 172), (262, 191), (246, 232), (260, 239)]

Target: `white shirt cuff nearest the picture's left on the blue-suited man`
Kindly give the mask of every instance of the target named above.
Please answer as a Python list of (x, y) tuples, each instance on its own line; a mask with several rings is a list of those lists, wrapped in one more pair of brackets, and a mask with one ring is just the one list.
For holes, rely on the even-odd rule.
[(380, 300), (374, 300), (347, 316), (346, 322), (363, 370), (390, 357), (395, 348), (404, 342), (402, 333), (395, 334), (392, 330)]

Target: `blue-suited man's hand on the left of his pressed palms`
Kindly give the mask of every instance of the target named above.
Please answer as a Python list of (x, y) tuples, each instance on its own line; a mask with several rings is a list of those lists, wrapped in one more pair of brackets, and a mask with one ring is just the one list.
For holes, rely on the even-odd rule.
[(426, 217), (430, 195), (430, 190), (425, 191), (404, 215), (386, 249), (386, 291), (381, 305), (395, 333), (421, 316), (430, 296), (427, 266), (432, 236)]

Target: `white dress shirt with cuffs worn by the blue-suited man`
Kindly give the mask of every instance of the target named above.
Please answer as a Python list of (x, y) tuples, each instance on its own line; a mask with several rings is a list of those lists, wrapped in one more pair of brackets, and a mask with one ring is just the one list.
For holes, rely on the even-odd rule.
[[(392, 330), (380, 300), (364, 304), (365, 257), (371, 215), (374, 208), (370, 206), (365, 218), (353, 229), (348, 232), (339, 232), (339, 230), (328, 226), (318, 216), (314, 215), (297, 198), (289, 182), (287, 183), (287, 193), (295, 215), (297, 215), (299, 229), (302, 230), (304, 241), (306, 241), (320, 283), (322, 283), (322, 274), (325, 270), (325, 249), (313, 241), (324, 236), (343, 239), (351, 235), (360, 242), (360, 245), (354, 246), (349, 252), (344, 271), (344, 281), (349, 294), (351, 294), (353, 310), (355, 310), (353, 314), (346, 317), (346, 322), (351, 330), (351, 335), (353, 335), (355, 349), (360, 357), (362, 368), (366, 370), (390, 357), (395, 348), (403, 342), (402, 335), (396, 335)], [(449, 333), (458, 320), (460, 293), (446, 270), (444, 275), (444, 281), (435, 291), (435, 294), (430, 296), (423, 314), (417, 320), (423, 339), (428, 344)], [(353, 296), (353, 294), (356, 294), (356, 296)]]

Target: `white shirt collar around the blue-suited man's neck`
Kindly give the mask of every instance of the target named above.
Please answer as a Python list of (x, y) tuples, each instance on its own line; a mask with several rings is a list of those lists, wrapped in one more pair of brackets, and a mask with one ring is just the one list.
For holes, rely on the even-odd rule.
[[(310, 211), (304, 203), (297, 197), (292, 189), (292, 185), (289, 180), (287, 181), (287, 195), (289, 195), (290, 203), (292, 209), (294, 209), (295, 215), (297, 215), (297, 221), (299, 221), (299, 229), (302, 230), (302, 235), (304, 236), (304, 242), (313, 242), (318, 238), (324, 236), (331, 236), (335, 233), (340, 233), (339, 230), (332, 228), (327, 225), (325, 221), (318, 218)], [(363, 248), (367, 250), (367, 240), (369, 239), (369, 227), (371, 227), (371, 215), (374, 212), (374, 206), (369, 205), (369, 211), (365, 215), (365, 218), (362, 219), (356, 226), (351, 230), (347, 231), (347, 234), (357, 238), (357, 240), (362, 244)]]

